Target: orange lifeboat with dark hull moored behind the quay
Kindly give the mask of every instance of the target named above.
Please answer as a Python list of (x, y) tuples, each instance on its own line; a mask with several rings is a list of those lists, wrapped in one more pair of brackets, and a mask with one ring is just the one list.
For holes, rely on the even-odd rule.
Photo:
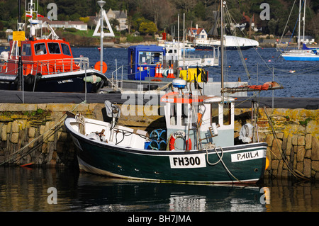
[[(30, 22), (30, 37), (24, 36), (21, 41), (11, 40), (10, 51), (1, 52), (0, 89), (23, 87), (24, 91), (99, 91), (107, 83), (104, 74), (106, 67), (101, 72), (99, 66), (98, 69), (90, 68), (89, 58), (74, 58), (69, 43), (60, 39), (49, 23), (38, 20), (39, 14), (33, 10), (32, 0), (28, 6), (26, 16)], [(50, 35), (37, 38), (36, 30), (42, 27), (47, 27)], [(23, 69), (19, 70), (21, 67)]]

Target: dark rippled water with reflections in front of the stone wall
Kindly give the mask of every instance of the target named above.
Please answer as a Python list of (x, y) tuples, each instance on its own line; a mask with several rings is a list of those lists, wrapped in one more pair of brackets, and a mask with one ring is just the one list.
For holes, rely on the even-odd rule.
[[(47, 202), (50, 187), (57, 189), (57, 204)], [(262, 187), (269, 188), (270, 203), (262, 203)], [(0, 167), (0, 211), (319, 211), (318, 198), (318, 183), (195, 186), (109, 179), (72, 169)]]

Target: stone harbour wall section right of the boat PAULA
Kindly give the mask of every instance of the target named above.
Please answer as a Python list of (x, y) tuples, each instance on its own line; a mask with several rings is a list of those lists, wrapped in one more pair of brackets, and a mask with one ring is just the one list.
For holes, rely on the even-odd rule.
[[(251, 109), (235, 109), (235, 137), (251, 123)], [(260, 142), (267, 142), (265, 176), (319, 179), (319, 110), (259, 108)]]

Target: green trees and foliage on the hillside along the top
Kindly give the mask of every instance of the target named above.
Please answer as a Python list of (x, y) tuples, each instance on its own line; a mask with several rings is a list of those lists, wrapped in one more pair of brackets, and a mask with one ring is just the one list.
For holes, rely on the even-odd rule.
[[(88, 23), (91, 29), (94, 29), (95, 24), (89, 21), (88, 16), (95, 16), (99, 12), (100, 7), (96, 3), (96, 0), (54, 0), (51, 1), (57, 4), (57, 17), (60, 21), (84, 21)], [(270, 6), (270, 20), (261, 21), (259, 14), (263, 9), (260, 9), (260, 5), (267, 2)], [(47, 4), (50, 1), (39, 1), (39, 13), (43, 16), (47, 16), (50, 9), (47, 9)], [(177, 27), (177, 15), (179, 14), (180, 20), (183, 13), (185, 13), (186, 27), (198, 23), (198, 26), (210, 30), (213, 24), (212, 11), (218, 9), (219, 1), (212, 0), (108, 0), (103, 6), (103, 9), (113, 11), (128, 10), (128, 24), (130, 30), (139, 30), (142, 34), (149, 34), (156, 32), (157, 29), (171, 32), (171, 26)], [(289, 13), (293, 6), (291, 19), (288, 23), (288, 29), (293, 30), (296, 19), (298, 16), (298, 1), (293, 6), (291, 0), (228, 0), (227, 6), (230, 14), (235, 19), (235, 22), (240, 22), (242, 19), (242, 13), (252, 17), (254, 15), (255, 24), (263, 27), (263, 33), (271, 33), (274, 35), (282, 35)], [(24, 1), (22, 1), (21, 9), (24, 21)], [(314, 21), (318, 21), (319, 0), (308, 1), (306, 7), (306, 35), (313, 35), (318, 39), (318, 26)], [(0, 0), (0, 21), (6, 28), (16, 29), (16, 21), (18, 19), (18, 4), (8, 0)], [(116, 22), (116, 21), (114, 21)], [(155, 27), (152, 25), (142, 23), (155, 23)], [(182, 21), (180, 21), (180, 25)], [(113, 23), (113, 26), (116, 26)], [(152, 27), (152, 28), (151, 28)]]

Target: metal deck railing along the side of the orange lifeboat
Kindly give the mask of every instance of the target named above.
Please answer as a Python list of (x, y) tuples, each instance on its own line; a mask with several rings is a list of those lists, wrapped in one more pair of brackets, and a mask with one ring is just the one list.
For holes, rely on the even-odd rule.
[[(9, 60), (13, 64), (18, 64), (18, 60)], [(63, 72), (76, 72), (79, 70), (89, 69), (88, 57), (63, 58), (52, 60), (23, 60), (23, 74), (58, 74)], [(18, 67), (15, 67), (17, 73)]]

